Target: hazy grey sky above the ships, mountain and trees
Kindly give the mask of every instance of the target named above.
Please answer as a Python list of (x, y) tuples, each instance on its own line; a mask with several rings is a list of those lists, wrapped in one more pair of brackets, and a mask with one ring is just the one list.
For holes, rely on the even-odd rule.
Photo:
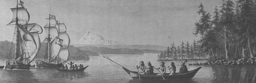
[[(65, 23), (71, 43), (87, 32), (100, 34), (106, 40), (128, 44), (180, 45), (199, 40), (193, 35), (200, 3), (213, 14), (222, 0), (22, 0), (30, 14), (29, 23), (46, 25), (45, 18), (55, 15)], [(235, 3), (235, 2), (234, 2)], [(12, 41), (10, 8), (16, 0), (0, 1), (0, 41)]]

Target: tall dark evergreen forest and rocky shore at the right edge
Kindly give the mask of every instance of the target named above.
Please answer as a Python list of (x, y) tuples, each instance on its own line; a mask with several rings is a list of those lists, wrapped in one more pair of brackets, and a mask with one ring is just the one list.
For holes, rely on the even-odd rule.
[[(211, 15), (204, 10), (201, 3), (197, 11), (201, 17), (195, 23), (193, 35), (200, 37), (197, 41), (197, 52), (203, 55), (193, 55), (192, 47), (192, 50), (189, 50), (190, 53), (184, 50), (179, 51), (181, 54), (178, 58), (209, 56), (210, 61), (254, 58), (256, 56), (256, 1), (223, 0), (221, 7), (216, 6), (213, 10)], [(160, 54), (159, 59), (177, 59), (174, 57), (177, 52), (168, 52), (168, 49), (172, 47)]]

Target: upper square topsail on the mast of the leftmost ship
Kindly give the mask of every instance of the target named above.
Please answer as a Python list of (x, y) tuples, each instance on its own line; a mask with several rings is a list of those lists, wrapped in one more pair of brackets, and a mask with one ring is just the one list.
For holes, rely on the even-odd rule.
[(9, 24), (16, 22), (17, 10), (18, 10), (18, 17), (17, 17), (18, 22), (20, 22), (21, 24), (28, 23), (28, 21), (30, 19), (30, 15), (24, 7), (11, 8), (11, 10), (12, 10), (12, 13), (13, 13), (13, 18), (12, 18), (12, 21)]

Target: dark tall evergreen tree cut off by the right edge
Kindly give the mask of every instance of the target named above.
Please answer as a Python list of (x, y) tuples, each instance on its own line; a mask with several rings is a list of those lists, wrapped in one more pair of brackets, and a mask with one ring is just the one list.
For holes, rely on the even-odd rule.
[[(253, 56), (252, 43), (255, 44), (256, 37), (256, 9), (254, 0), (238, 0), (239, 13), (237, 15), (237, 29), (240, 43), (244, 43), (248, 47), (250, 57)], [(254, 45), (255, 46), (255, 45)], [(246, 46), (244, 45), (244, 48)]]

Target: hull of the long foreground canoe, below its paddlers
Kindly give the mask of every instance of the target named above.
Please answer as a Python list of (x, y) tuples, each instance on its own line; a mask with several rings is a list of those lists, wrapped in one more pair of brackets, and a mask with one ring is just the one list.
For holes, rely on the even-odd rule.
[(132, 77), (132, 78), (141, 78), (141, 79), (188, 79), (188, 78), (193, 78), (197, 71), (201, 69), (202, 67), (198, 67), (197, 69), (191, 70), (188, 73), (183, 73), (183, 74), (178, 74), (176, 73), (175, 75), (157, 75), (158, 73), (154, 73), (153, 75), (145, 75), (145, 74), (138, 74), (136, 71), (130, 71), (126, 68), (123, 67), (123, 69)]

